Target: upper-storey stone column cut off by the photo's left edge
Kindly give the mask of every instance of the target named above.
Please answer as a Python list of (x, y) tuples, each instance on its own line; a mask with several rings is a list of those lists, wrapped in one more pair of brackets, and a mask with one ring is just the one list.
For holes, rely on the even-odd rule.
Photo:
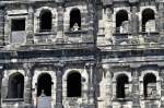
[(0, 5), (0, 46), (4, 44), (4, 8)]

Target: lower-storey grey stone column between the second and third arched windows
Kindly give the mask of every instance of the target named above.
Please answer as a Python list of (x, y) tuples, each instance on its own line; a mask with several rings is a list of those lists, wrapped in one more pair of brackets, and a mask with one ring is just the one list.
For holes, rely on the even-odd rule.
[(56, 87), (56, 108), (63, 108), (62, 106), (62, 69), (63, 65), (57, 65), (57, 87)]

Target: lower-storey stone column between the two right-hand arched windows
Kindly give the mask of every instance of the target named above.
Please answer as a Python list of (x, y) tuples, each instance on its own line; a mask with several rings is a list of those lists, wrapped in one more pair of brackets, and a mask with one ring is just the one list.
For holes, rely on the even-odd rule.
[(137, 69), (132, 72), (132, 108), (140, 107), (140, 87), (139, 87), (139, 72)]

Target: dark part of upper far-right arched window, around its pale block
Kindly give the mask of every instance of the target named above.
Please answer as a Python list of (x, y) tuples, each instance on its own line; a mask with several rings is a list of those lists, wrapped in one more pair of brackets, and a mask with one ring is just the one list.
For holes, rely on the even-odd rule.
[(142, 12), (142, 32), (145, 32), (145, 24), (150, 20), (155, 20), (155, 14), (152, 9), (145, 9)]

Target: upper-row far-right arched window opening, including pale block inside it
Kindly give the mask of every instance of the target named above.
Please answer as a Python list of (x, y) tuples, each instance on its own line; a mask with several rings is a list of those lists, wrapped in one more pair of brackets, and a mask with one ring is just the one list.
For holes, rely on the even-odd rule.
[(152, 9), (145, 9), (142, 12), (142, 32), (151, 32), (155, 28), (155, 13)]

